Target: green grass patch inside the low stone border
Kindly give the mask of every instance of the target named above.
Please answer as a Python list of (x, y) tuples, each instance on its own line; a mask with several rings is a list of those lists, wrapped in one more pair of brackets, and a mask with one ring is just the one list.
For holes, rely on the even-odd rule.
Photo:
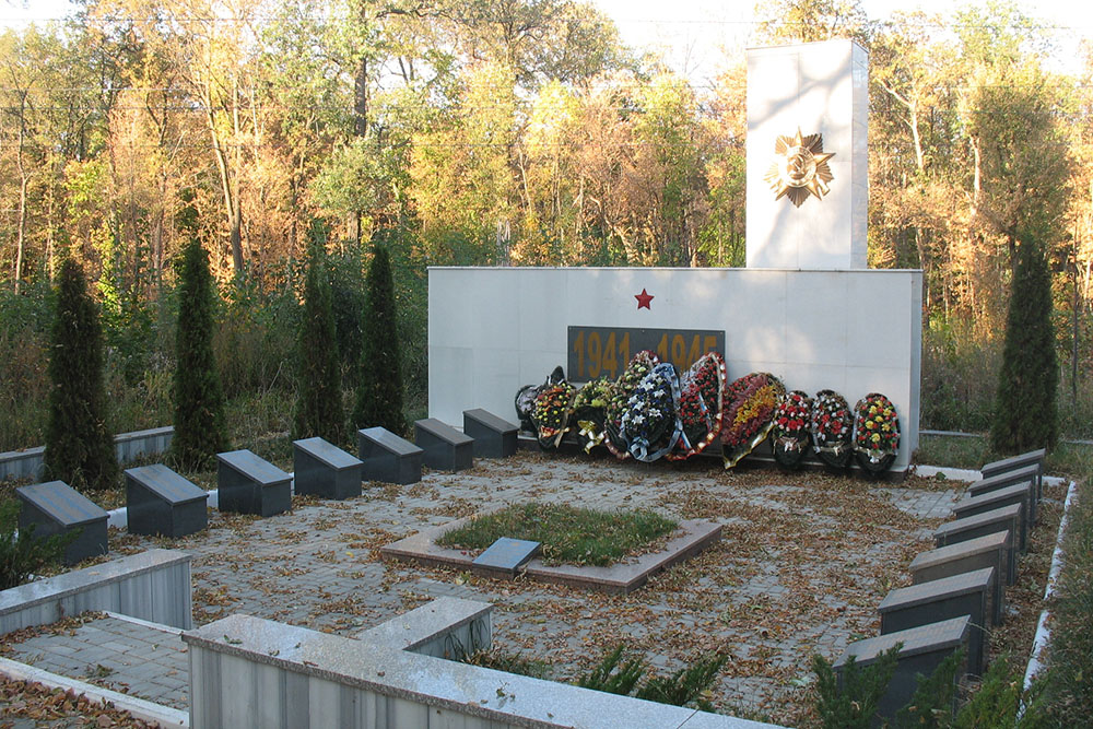
[(446, 532), (438, 543), (483, 550), (502, 537), (542, 542), (549, 564), (606, 566), (675, 531), (648, 509), (599, 512), (562, 504), (514, 504)]

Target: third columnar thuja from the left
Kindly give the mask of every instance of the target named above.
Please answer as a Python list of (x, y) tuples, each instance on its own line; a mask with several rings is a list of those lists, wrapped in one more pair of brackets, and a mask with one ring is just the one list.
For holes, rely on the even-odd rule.
[(319, 436), (340, 443), (344, 427), (338, 334), (334, 328), (330, 281), (319, 224), (312, 227), (312, 254), (304, 281), (304, 317), (296, 353), (298, 392), (293, 413), (295, 438)]

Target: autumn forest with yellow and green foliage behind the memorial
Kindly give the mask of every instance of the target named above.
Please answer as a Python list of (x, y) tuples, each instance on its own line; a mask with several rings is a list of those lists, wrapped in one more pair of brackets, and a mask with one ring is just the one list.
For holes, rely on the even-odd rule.
[[(1093, 436), (1091, 47), (1060, 71), (1051, 30), (998, 2), (878, 22), (856, 0), (764, 0), (755, 19), (753, 45), (869, 49), (869, 259), (925, 271), (922, 427), (989, 427), (1034, 239), (1061, 431)], [(693, 82), (571, 0), (84, 0), (5, 32), (0, 450), (43, 442), (66, 257), (102, 304), (110, 428), (171, 422), (187, 208), (240, 440), (289, 430), (315, 221), (346, 392), (371, 242), (390, 251), (410, 418), (427, 266), (743, 266), (743, 50), (724, 56)]]

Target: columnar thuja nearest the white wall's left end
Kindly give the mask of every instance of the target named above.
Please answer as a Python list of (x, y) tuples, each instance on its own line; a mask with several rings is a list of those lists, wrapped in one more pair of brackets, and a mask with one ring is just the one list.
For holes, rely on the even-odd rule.
[(402, 362), (396, 327), (395, 282), (387, 248), (376, 245), (366, 281), (367, 304), (362, 328), (361, 374), (353, 408), (356, 427), (386, 427), (402, 433)]

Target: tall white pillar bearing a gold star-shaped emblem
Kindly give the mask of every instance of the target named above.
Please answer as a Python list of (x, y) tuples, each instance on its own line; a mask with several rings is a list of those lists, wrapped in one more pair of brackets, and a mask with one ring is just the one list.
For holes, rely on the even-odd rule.
[(863, 269), (869, 55), (748, 50), (748, 268)]

